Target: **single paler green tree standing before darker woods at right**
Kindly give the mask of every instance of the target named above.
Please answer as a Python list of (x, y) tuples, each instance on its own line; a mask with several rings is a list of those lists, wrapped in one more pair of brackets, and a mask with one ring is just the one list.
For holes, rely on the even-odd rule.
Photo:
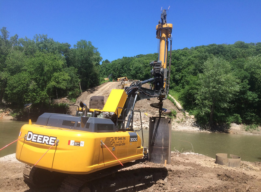
[(230, 65), (222, 58), (208, 59), (203, 65), (203, 73), (199, 74), (199, 91), (196, 103), (199, 115), (208, 114), (208, 122), (213, 125), (216, 108), (228, 108), (229, 102), (239, 91), (239, 81), (233, 75)]

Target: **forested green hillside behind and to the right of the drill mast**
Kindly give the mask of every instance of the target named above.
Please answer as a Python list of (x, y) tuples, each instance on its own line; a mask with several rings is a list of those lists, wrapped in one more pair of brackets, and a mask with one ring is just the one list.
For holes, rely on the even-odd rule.
[[(157, 53), (103, 61), (102, 76), (150, 77)], [(170, 89), (197, 122), (210, 127), (261, 123), (261, 43), (202, 45), (172, 51)]]

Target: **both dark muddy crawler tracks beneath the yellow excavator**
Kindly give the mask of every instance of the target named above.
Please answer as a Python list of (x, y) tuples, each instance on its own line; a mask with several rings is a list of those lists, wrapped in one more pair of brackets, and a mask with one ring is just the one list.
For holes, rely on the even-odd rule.
[(25, 165), (24, 182), (31, 189), (53, 188), (60, 192), (137, 191), (152, 186), (167, 176), (161, 164), (135, 162), (96, 171), (91, 174), (64, 174)]

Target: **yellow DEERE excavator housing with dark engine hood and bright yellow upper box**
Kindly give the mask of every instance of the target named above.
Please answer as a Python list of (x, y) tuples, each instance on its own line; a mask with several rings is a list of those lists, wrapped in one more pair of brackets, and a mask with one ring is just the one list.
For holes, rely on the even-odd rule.
[[(124, 90), (113, 89), (99, 112), (116, 114), (126, 99)], [(87, 174), (119, 165), (119, 161), (126, 163), (143, 157), (139, 135), (116, 130), (115, 124), (105, 118), (44, 113), (36, 124), (21, 127), (19, 135), (19, 138), (26, 135), (17, 142), (19, 161), (33, 166), (40, 159), (36, 167), (62, 173)]]

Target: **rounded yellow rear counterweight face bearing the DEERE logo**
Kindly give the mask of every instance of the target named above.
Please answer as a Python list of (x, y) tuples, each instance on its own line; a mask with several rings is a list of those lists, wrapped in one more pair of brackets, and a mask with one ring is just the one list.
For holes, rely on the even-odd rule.
[[(24, 125), (21, 132), (21, 136), (27, 134), (27, 138), (17, 143), (16, 158), (19, 161), (34, 165), (44, 155), (51, 145), (49, 141), (46, 144), (41, 142), (42, 139), (38, 139), (43, 135), (55, 138), (55, 141), (59, 139), (59, 143), (43, 156), (36, 167), (64, 173), (89, 171), (86, 167), (93, 169), (96, 139), (93, 133), (39, 125)], [(34, 139), (30, 140), (30, 133), (33, 133)]]

